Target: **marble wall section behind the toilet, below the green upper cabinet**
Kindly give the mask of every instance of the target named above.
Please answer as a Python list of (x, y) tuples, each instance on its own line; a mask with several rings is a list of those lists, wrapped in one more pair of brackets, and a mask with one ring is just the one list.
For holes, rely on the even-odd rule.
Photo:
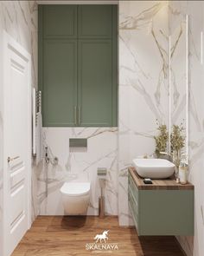
[[(37, 169), (41, 215), (63, 215), (60, 188), (65, 181), (91, 182), (87, 214), (99, 213), (98, 167), (107, 168), (105, 213), (118, 215), (118, 128), (43, 128), (43, 148), (57, 165), (41, 161)], [(70, 138), (87, 138), (87, 148), (69, 148)]]

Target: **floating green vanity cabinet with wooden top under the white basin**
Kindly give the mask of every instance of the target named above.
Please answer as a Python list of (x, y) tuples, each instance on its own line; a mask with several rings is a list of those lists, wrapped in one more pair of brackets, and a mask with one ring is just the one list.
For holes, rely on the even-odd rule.
[(128, 200), (138, 235), (193, 235), (193, 185), (141, 185), (134, 175), (129, 171)]

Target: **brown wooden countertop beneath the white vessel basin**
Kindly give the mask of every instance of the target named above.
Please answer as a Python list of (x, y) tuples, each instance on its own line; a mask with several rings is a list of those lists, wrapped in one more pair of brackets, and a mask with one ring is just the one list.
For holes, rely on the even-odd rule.
[(191, 183), (187, 183), (182, 185), (180, 183), (176, 183), (175, 177), (170, 177), (165, 180), (152, 180), (153, 184), (144, 184), (143, 178), (141, 178), (134, 167), (129, 168), (129, 173), (133, 181), (135, 181), (138, 189), (143, 190), (194, 190), (194, 185)]

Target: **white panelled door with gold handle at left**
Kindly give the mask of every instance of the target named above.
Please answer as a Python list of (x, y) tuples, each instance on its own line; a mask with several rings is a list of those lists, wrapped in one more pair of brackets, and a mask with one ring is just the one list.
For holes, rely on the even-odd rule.
[(30, 227), (30, 56), (3, 33), (3, 256)]

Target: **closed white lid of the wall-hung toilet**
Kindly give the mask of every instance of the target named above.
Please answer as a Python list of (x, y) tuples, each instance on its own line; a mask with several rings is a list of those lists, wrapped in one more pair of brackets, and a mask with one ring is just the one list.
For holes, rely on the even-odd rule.
[(90, 191), (89, 182), (65, 182), (61, 187), (61, 193), (70, 196), (88, 194)]

